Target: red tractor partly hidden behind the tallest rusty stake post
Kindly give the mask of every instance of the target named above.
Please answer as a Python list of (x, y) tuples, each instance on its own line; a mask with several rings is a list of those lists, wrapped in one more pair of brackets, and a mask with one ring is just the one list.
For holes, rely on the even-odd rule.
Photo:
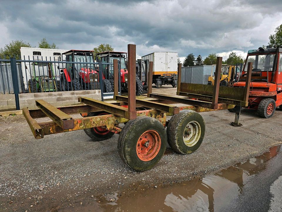
[[(101, 52), (96, 54), (96, 61), (102, 61), (103, 63), (113, 63), (113, 59), (120, 61), (120, 84), (121, 91), (128, 90), (127, 83), (127, 53), (126, 52)], [(136, 73), (136, 95), (140, 95), (143, 91), (143, 83), (139, 78), (139, 73)], [(103, 77), (106, 81), (104, 87), (112, 89), (113, 87), (113, 65), (103, 65)], [(109, 91), (113, 92), (113, 91)]]

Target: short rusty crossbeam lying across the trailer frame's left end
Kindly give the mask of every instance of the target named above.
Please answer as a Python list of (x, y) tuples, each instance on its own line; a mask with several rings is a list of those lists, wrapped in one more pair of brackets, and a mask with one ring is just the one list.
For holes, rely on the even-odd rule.
[(50, 105), (44, 100), (36, 100), (35, 104), (40, 110), (51, 118), (62, 129), (67, 130), (74, 127), (74, 120), (68, 114), (62, 112), (58, 108)]

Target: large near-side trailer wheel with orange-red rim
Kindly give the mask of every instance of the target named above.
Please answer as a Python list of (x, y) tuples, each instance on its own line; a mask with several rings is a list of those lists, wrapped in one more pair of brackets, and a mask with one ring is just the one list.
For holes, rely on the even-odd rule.
[(162, 158), (167, 145), (164, 126), (158, 120), (139, 116), (122, 128), (117, 150), (130, 168), (145, 171), (153, 168)]

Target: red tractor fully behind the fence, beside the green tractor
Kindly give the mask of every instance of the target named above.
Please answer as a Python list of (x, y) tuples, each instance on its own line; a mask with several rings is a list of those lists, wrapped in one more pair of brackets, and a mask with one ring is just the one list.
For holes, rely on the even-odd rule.
[(87, 50), (69, 50), (65, 53), (67, 62), (66, 68), (61, 70), (58, 87), (62, 91), (68, 90), (93, 90), (99, 89), (98, 72), (93, 64), (79, 64), (79, 62), (93, 63), (93, 52)]

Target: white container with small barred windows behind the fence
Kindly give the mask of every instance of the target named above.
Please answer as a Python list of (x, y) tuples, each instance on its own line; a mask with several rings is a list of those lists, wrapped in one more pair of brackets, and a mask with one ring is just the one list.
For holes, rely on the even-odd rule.
[[(21, 60), (46, 60), (46, 61), (64, 61), (66, 60), (66, 55), (64, 52), (67, 52), (66, 49), (42, 49), (42, 48), (31, 48), (31, 47), (21, 47)], [(28, 63), (22, 62), (22, 73), (24, 86), (28, 88), (28, 80), (31, 79), (31, 67), (27, 65)], [(55, 70), (56, 79), (60, 79), (60, 72), (57, 67), (63, 68), (63, 63), (53, 64)]]

